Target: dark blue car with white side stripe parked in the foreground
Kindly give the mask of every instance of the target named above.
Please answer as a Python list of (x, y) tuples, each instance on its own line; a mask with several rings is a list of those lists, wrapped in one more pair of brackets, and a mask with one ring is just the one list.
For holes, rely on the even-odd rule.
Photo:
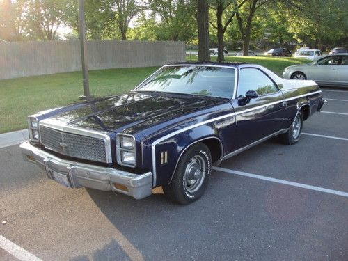
[(144, 198), (162, 186), (188, 204), (203, 195), (213, 164), (274, 136), (296, 143), (323, 104), (314, 81), (260, 65), (164, 65), (125, 95), (29, 116), (20, 148), (66, 187)]

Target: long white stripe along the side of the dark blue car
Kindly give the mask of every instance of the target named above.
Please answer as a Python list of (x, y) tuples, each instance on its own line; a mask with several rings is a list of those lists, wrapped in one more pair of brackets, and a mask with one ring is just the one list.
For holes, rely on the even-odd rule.
[[(279, 101), (276, 101), (276, 102), (271, 102), (269, 104), (263, 104), (263, 105), (260, 105), (260, 106), (256, 106), (256, 107), (253, 107), (253, 108), (250, 108), (250, 109), (246, 109), (244, 111), (238, 111), (237, 113), (228, 113), (226, 115), (223, 115), (223, 116), (219, 116), (219, 117), (216, 117), (216, 118), (212, 118), (210, 120), (205, 120), (204, 122), (200, 122), (200, 123), (196, 123), (194, 125), (191, 125), (191, 126), (188, 126), (188, 127), (184, 127), (182, 129), (178, 129), (177, 131), (175, 132), (172, 132), (171, 134), (167, 134), (166, 136), (163, 136), (157, 140), (155, 140), (154, 142), (152, 142), (152, 145), (151, 145), (151, 150), (152, 150), (152, 175), (153, 175), (153, 186), (155, 187), (156, 185), (156, 179), (157, 179), (157, 172), (156, 172), (156, 145), (158, 143), (160, 143), (161, 141), (164, 141), (168, 138), (171, 138), (172, 136), (175, 136), (177, 134), (180, 134), (182, 132), (186, 132), (187, 130), (189, 129), (193, 129), (193, 128), (196, 128), (196, 127), (199, 127), (201, 125), (205, 125), (207, 123), (210, 123), (210, 122), (214, 122), (216, 120), (221, 120), (223, 118), (228, 118), (228, 117), (231, 117), (231, 116), (236, 116), (236, 115), (239, 115), (239, 114), (242, 114), (242, 113), (246, 113), (246, 112), (249, 112), (249, 111), (254, 111), (256, 109), (261, 109), (263, 107), (266, 107), (266, 106), (270, 106), (270, 105), (273, 105), (273, 104), (278, 104), (280, 102), (285, 102), (285, 101), (290, 101), (290, 100), (296, 100), (298, 98), (301, 98), (301, 97), (306, 97), (306, 96), (309, 96), (309, 95), (314, 95), (314, 94), (317, 94), (317, 93), (322, 93), (321, 90), (317, 90), (315, 92), (312, 92), (312, 93), (306, 93), (306, 94), (303, 94), (303, 95), (298, 95), (298, 96), (295, 96), (295, 97), (291, 97), (291, 98), (287, 98), (287, 99), (282, 99), (282, 100), (279, 100)], [(301, 108), (301, 107), (300, 107)]]

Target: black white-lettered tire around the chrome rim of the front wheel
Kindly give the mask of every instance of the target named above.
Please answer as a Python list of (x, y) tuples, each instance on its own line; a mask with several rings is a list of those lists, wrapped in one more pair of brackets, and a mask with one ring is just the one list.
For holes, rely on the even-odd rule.
[[(200, 155), (205, 161), (207, 172), (205, 173), (203, 183), (200, 185), (200, 188), (198, 189), (198, 191), (190, 192), (190, 191), (187, 191), (187, 188), (185, 186), (184, 173), (185, 173), (187, 164), (196, 155)], [(185, 200), (187, 200), (187, 202), (196, 201), (198, 198), (200, 198), (203, 195), (205, 188), (207, 187), (211, 173), (212, 173), (212, 157), (210, 155), (210, 152), (207, 146), (203, 144), (195, 145), (193, 148), (190, 148), (187, 151), (187, 153), (184, 154), (184, 156), (182, 157), (182, 162), (180, 162), (180, 165), (177, 168), (175, 175), (180, 175), (180, 185), (181, 185), (180, 193), (185, 198)]]

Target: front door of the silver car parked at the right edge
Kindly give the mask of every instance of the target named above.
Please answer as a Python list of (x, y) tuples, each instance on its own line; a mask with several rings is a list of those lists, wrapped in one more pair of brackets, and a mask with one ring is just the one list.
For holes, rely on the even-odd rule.
[(340, 56), (328, 56), (321, 58), (310, 66), (306, 73), (307, 79), (317, 81), (319, 84), (337, 82), (338, 63)]

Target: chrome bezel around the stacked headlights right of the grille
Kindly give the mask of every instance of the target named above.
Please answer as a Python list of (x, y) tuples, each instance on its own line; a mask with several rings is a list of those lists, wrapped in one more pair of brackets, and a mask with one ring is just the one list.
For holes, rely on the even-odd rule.
[[(125, 146), (122, 144), (124, 141), (127, 141), (129, 143), (129, 139), (132, 139), (132, 147)], [(128, 154), (133, 154), (134, 155), (134, 160), (132, 163), (130, 162), (125, 162), (123, 157), (125, 153)], [(127, 166), (131, 168), (136, 167), (136, 140), (133, 135), (130, 134), (116, 134), (116, 159), (118, 165), (121, 166)]]

